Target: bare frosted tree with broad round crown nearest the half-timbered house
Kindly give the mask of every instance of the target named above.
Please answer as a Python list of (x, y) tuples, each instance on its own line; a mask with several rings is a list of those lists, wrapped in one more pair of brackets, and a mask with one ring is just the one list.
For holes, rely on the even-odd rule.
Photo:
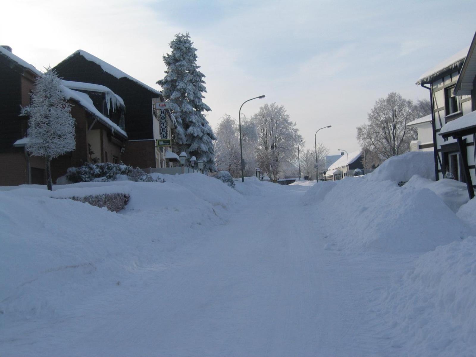
[(357, 139), (379, 157), (388, 159), (410, 149), (410, 141), (416, 139), (416, 130), (407, 123), (417, 119), (412, 100), (392, 92), (387, 98), (376, 101), (368, 113), (368, 123), (357, 127)]

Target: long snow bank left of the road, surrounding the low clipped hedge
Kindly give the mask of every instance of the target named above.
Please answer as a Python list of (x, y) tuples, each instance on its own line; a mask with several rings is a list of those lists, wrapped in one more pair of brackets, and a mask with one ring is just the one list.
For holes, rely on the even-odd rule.
[[(120, 286), (171, 251), (186, 249), (240, 202), (236, 191), (215, 178), (181, 175), (174, 181), (0, 191), (0, 325), (66, 314), (85, 297)], [(119, 214), (59, 199), (113, 192), (130, 195)]]

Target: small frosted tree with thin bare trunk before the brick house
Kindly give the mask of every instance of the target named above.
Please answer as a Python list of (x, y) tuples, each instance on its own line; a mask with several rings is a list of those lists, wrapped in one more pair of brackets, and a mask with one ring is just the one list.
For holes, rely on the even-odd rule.
[(74, 119), (66, 101), (61, 79), (50, 67), (35, 81), (31, 93), (27, 150), (45, 159), (48, 189), (52, 190), (51, 159), (73, 151), (76, 146)]

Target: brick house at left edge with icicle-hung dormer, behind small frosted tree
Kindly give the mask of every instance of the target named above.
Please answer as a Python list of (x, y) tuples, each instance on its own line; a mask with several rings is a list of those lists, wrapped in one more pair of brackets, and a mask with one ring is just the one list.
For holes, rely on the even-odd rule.
[[(0, 186), (46, 182), (44, 159), (31, 157), (26, 150), (28, 115), (21, 115), (22, 108), (30, 105), (35, 78), (41, 75), (35, 67), (14, 55), (8, 46), (0, 47)], [(85, 83), (63, 84), (63, 94), (72, 105), (71, 116), (76, 122), (76, 149), (51, 161), (53, 181), (69, 167), (89, 161), (93, 150), (101, 162), (115, 158), (119, 161), (127, 140), (126, 132), (94, 105), (95, 100), (102, 103), (108, 99), (111, 115), (120, 119), (123, 103), (110, 89), (92, 88)]]

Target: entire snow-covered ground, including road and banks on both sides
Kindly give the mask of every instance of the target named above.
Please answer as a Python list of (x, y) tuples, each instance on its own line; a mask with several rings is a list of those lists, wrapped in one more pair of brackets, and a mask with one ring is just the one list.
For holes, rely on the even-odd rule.
[(369, 178), (0, 191), (1, 355), (471, 356), (474, 202)]

